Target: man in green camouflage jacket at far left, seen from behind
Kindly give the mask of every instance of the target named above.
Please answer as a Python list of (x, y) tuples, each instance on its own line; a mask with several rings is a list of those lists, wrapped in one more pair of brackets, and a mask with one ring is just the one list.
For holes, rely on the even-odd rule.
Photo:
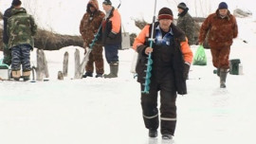
[(9, 48), (11, 50), (11, 75), (15, 81), (21, 77), (21, 64), (24, 81), (30, 76), (30, 50), (34, 46), (33, 36), (37, 26), (34, 18), (21, 8), (20, 0), (13, 0), (11, 17), (8, 20)]

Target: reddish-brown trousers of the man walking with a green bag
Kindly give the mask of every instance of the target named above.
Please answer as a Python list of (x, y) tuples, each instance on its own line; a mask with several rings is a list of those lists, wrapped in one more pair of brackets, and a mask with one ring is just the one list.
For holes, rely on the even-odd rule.
[(229, 69), (230, 46), (211, 47), (210, 52), (211, 52), (212, 63), (214, 67)]

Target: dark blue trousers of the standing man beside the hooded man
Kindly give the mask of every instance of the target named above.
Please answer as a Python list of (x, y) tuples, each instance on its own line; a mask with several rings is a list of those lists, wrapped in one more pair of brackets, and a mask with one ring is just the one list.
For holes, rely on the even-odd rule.
[(119, 62), (119, 45), (104, 45), (107, 63)]

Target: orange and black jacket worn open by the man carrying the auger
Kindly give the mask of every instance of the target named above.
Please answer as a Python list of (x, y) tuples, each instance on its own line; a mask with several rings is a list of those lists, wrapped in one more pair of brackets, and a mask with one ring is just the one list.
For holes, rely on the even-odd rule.
[[(155, 23), (155, 27), (158, 26), (158, 23)], [(173, 55), (168, 55), (167, 57), (173, 57), (172, 58), (172, 66), (174, 68), (174, 80), (166, 80), (166, 81), (174, 81), (175, 87), (176, 87), (176, 92), (180, 95), (185, 95), (187, 94), (187, 86), (186, 86), (186, 79), (184, 77), (184, 65), (185, 63), (192, 63), (192, 50), (188, 44), (188, 39), (186, 38), (184, 32), (175, 27), (173, 24), (171, 25), (173, 34), (174, 34), (174, 45), (170, 45), (170, 48), (173, 48), (174, 54)], [(147, 25), (144, 27), (137, 38), (135, 39), (133, 48), (137, 50), (138, 53), (138, 60), (137, 60), (137, 81), (138, 82), (144, 82), (145, 79), (145, 70), (147, 68), (146, 63), (147, 63), (147, 58), (148, 55), (145, 54), (145, 49), (150, 45), (150, 42), (148, 41), (149, 38), (151, 38), (151, 30), (152, 30), (152, 25)], [(155, 34), (154, 34), (155, 38)], [(153, 45), (153, 48), (156, 47), (157, 45)], [(154, 51), (152, 53), (154, 55)], [(166, 55), (163, 54), (165, 57)], [(161, 57), (161, 56), (160, 56)], [(169, 58), (168, 58), (169, 59)], [(153, 57), (154, 61), (154, 57)], [(161, 63), (155, 63), (155, 64), (161, 64)], [(154, 68), (157, 67), (156, 65), (153, 66), (153, 71)]]

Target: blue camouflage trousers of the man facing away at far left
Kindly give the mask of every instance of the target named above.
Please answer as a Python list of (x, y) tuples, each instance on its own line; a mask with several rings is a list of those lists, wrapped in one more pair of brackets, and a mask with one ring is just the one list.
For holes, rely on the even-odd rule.
[(16, 45), (11, 47), (11, 70), (20, 70), (21, 64), (23, 71), (30, 70), (30, 50), (30, 45)]

